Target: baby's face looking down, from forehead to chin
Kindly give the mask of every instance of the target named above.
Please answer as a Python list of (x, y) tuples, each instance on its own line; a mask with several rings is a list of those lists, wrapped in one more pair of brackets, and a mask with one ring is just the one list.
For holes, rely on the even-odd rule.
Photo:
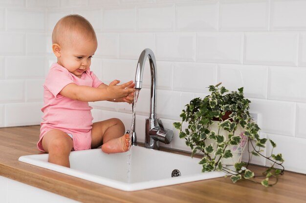
[(58, 63), (77, 77), (88, 70), (91, 57), (97, 49), (97, 41), (92, 38), (75, 38), (61, 47)]

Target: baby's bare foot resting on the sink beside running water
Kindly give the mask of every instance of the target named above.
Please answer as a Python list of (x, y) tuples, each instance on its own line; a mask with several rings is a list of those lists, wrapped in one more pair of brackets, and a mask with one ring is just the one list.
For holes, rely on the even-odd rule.
[(102, 151), (105, 153), (126, 152), (130, 147), (130, 135), (125, 134), (119, 138), (111, 139), (102, 145)]

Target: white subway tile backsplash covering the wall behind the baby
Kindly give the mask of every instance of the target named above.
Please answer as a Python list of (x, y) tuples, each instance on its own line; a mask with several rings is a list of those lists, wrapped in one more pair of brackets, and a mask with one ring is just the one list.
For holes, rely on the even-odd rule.
[[(153, 50), (157, 116), (166, 128), (174, 129), (185, 104), (205, 96), (207, 86), (243, 86), (262, 136), (277, 142), (286, 169), (306, 173), (298, 155), (306, 153), (305, 10), (305, 0), (1, 0), (0, 127), (40, 123), (42, 84), (55, 61), (51, 32), (60, 18), (76, 13), (96, 30), (91, 69), (105, 83), (133, 80), (141, 51)], [(146, 66), (136, 112), (139, 142), (150, 109)], [(131, 105), (90, 104), (94, 121), (118, 117), (130, 127)], [(176, 130), (166, 147), (188, 150)]]

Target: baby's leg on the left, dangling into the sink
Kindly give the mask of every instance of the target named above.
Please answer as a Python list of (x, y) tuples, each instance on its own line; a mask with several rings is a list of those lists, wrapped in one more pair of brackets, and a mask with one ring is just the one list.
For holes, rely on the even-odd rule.
[(72, 139), (59, 129), (48, 131), (43, 138), (43, 148), (49, 153), (48, 162), (70, 167), (69, 154), (73, 148)]

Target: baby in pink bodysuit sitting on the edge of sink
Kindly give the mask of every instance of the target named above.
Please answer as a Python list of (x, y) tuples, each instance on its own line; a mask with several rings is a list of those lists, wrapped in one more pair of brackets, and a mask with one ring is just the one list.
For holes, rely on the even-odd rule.
[(133, 101), (133, 81), (102, 83), (90, 71), (97, 38), (91, 24), (79, 15), (60, 19), (52, 33), (57, 57), (44, 82), (44, 112), (39, 150), (49, 153), (50, 163), (70, 167), (71, 150), (97, 148), (106, 153), (129, 149), (129, 135), (117, 118), (92, 123), (89, 101)]

